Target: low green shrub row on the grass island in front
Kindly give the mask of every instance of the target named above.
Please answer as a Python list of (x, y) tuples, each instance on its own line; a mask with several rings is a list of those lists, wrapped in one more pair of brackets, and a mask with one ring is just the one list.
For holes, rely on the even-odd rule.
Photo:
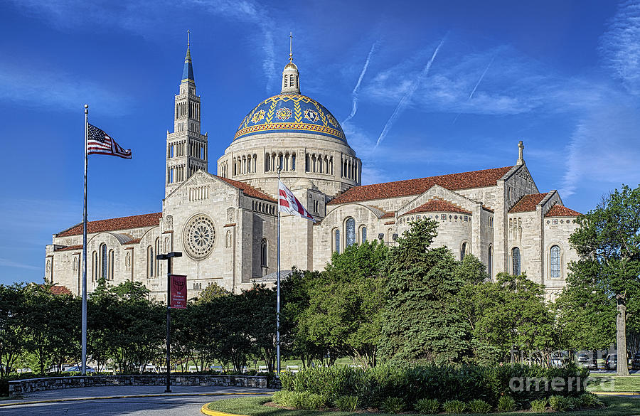
[[(404, 403), (422, 399), (471, 402), (484, 400), (492, 407), (499, 398), (513, 398), (516, 407), (552, 395), (578, 397), (585, 391), (588, 370), (568, 366), (545, 368), (513, 364), (505, 366), (377, 366), (368, 370), (348, 367), (307, 368), (282, 373), (282, 389), (321, 395), (328, 402), (353, 396), (358, 407), (382, 408), (388, 398)], [(545, 383), (546, 381), (546, 383)]]

